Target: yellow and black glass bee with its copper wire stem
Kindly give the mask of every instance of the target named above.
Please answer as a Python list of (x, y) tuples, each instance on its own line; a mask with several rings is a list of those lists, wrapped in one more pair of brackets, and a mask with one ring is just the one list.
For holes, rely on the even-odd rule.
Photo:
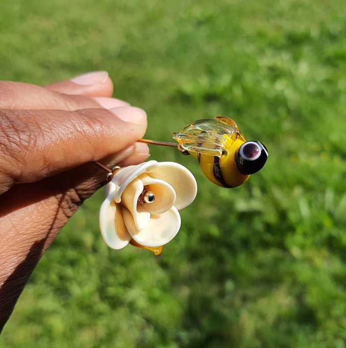
[(197, 158), (204, 175), (214, 184), (232, 188), (243, 184), (263, 168), (267, 148), (259, 141), (246, 141), (235, 121), (216, 116), (190, 123), (173, 134), (178, 142), (141, 139), (148, 144), (174, 146), (184, 155)]

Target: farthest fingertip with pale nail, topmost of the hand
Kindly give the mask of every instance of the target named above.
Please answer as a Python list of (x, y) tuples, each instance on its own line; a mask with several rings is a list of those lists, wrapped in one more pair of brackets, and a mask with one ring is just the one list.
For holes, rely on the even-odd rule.
[(113, 83), (106, 71), (86, 73), (69, 81), (49, 84), (45, 88), (64, 94), (78, 94), (88, 97), (111, 97), (113, 94)]

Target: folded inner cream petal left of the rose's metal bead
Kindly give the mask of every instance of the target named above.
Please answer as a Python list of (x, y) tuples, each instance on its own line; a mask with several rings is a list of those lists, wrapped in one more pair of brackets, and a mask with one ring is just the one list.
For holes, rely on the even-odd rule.
[(141, 206), (137, 207), (137, 201), (143, 191), (143, 183), (139, 178), (133, 179), (125, 188), (121, 203), (131, 212), (136, 229), (142, 230), (149, 222), (150, 212)]

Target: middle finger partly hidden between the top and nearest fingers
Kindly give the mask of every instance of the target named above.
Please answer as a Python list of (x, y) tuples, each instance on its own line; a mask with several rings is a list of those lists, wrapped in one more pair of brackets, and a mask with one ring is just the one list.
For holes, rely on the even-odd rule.
[[(61, 82), (61, 84), (64, 83)], [(129, 104), (114, 98), (89, 98), (83, 95), (61, 94), (30, 83), (0, 81), (0, 108), (8, 110), (73, 111), (101, 106), (113, 108), (129, 106)]]

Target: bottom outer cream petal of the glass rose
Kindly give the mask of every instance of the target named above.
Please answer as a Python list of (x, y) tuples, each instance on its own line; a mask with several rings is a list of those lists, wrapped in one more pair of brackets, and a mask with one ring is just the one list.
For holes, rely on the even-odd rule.
[(148, 225), (141, 231), (135, 228), (132, 214), (123, 209), (125, 225), (134, 241), (146, 247), (158, 247), (170, 242), (180, 228), (180, 215), (174, 206), (160, 215), (151, 215)]

